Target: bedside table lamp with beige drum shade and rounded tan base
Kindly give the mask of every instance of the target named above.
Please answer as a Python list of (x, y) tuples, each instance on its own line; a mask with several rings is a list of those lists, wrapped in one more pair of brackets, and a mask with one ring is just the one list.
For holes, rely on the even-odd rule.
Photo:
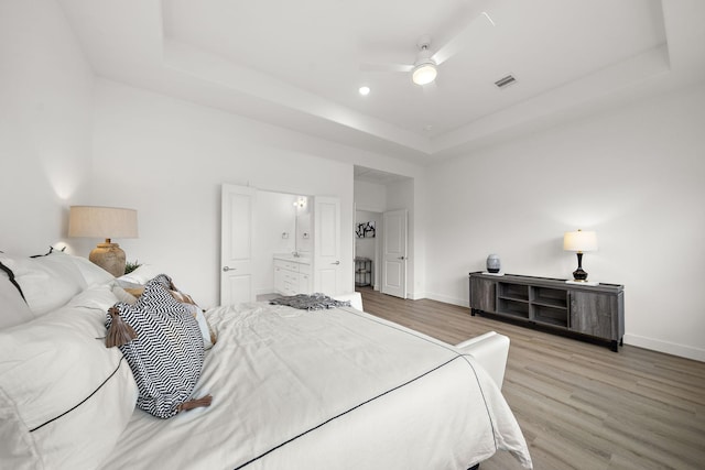
[(137, 210), (119, 207), (70, 206), (68, 237), (104, 238), (105, 243), (90, 252), (88, 259), (118, 277), (124, 274), (124, 251), (110, 239), (137, 238)]

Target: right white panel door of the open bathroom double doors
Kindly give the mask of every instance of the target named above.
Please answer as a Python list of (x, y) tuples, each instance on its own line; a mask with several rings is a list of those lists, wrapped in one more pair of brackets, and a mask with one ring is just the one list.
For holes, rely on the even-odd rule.
[(314, 198), (314, 292), (340, 294), (340, 199)]

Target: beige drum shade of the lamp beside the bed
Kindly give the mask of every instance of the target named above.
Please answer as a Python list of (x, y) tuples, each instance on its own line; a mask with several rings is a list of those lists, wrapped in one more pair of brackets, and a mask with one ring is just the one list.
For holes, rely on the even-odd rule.
[(137, 238), (137, 210), (120, 207), (70, 206), (68, 237)]

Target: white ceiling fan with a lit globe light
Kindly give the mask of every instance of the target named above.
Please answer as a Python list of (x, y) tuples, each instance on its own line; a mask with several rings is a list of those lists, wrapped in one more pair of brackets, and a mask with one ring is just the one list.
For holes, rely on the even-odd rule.
[[(488, 1), (480, 2), (480, 7), (485, 7)], [(362, 64), (360, 69), (364, 72), (411, 72), (411, 79), (416, 85), (427, 85), (433, 83), (438, 75), (438, 66), (460, 51), (465, 44), (465, 36), (471, 30), (471, 25), (480, 17), (485, 17), (492, 26), (495, 21), (484, 11), (478, 10), (474, 14), (470, 22), (455, 37), (451, 39), (446, 44), (441, 46), (436, 52), (431, 50), (431, 36), (423, 35), (419, 37), (416, 47), (416, 59), (413, 64)]]

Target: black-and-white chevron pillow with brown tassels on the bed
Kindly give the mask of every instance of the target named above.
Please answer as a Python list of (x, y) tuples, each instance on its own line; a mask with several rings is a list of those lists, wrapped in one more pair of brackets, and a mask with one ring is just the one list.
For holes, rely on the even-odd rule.
[(137, 334), (117, 346), (137, 381), (137, 405), (160, 418), (209, 404), (209, 397), (207, 403), (188, 402), (200, 376), (204, 342), (192, 313), (172, 296), (172, 285), (167, 275), (158, 275), (145, 284), (134, 305), (117, 303), (106, 320), (108, 329), (124, 328), (120, 325), (124, 323)]

